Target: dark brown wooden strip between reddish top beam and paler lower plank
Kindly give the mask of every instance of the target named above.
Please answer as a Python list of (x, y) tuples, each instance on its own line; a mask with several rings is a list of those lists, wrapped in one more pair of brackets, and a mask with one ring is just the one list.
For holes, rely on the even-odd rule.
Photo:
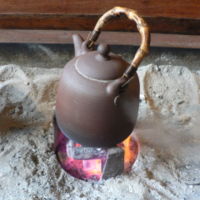
[[(92, 30), (100, 16), (69, 16), (69, 15), (2, 15), (0, 14), (0, 29), (64, 29)], [(151, 32), (200, 34), (200, 20), (171, 19), (146, 17)], [(104, 27), (107, 31), (136, 31), (133, 22), (122, 17), (113, 20)]]

